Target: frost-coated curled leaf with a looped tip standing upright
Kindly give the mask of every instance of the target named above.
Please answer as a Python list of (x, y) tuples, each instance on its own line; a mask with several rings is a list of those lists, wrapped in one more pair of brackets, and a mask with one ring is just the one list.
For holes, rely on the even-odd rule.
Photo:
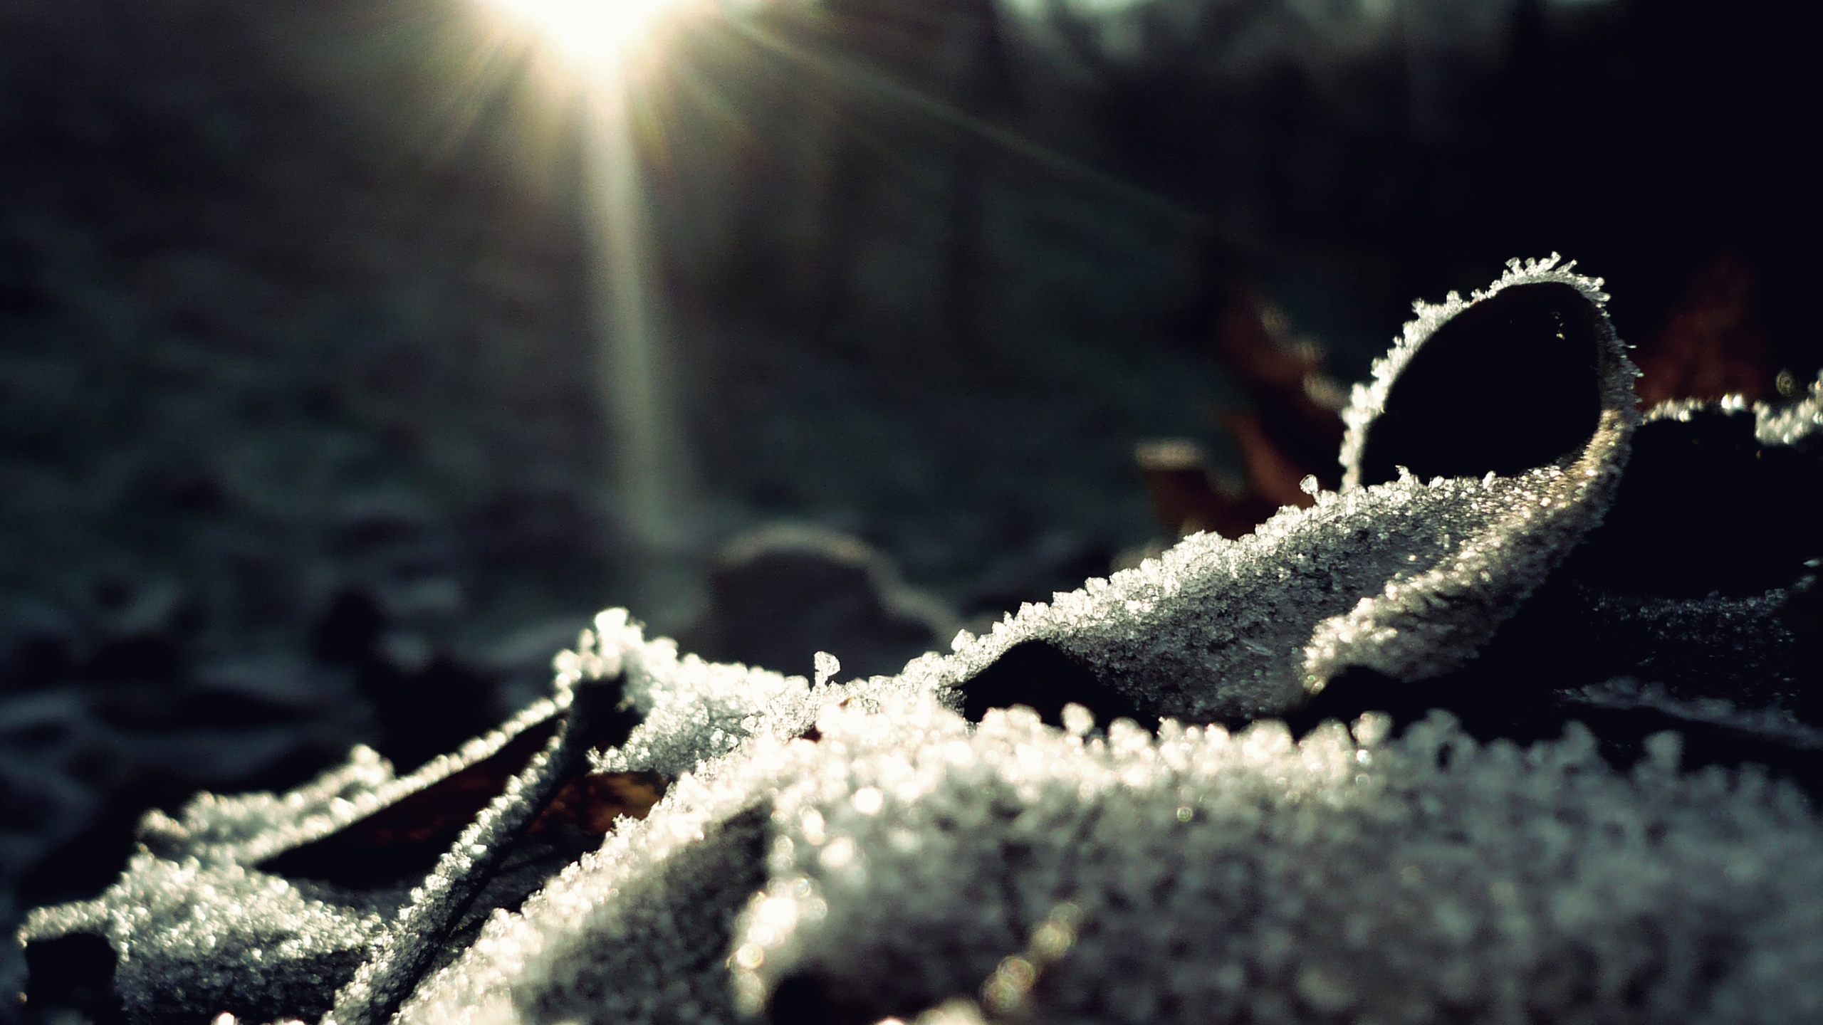
[[(910, 666), (908, 677), (959, 686), (1010, 647), (1041, 640), (1145, 711), (1207, 722), (1283, 715), (1353, 666), (1404, 680), (1458, 666), (1601, 522), (1613, 496), (1639, 414), (1635, 370), (1601, 312), (1604, 303), (1601, 281), (1555, 255), (1513, 261), (1500, 281), (1469, 299), (1451, 294), (1442, 305), (1420, 303), (1416, 319), (1375, 365), (1373, 383), (1354, 390), (1340, 494), (1320, 494), (1311, 509), (1282, 509), (1238, 542), (1185, 538), (1138, 569), (1028, 606), (990, 635), (964, 638), (948, 660)], [(1555, 418), (1540, 409), (1544, 398), (1502, 379), (1451, 379), (1431, 387), (1444, 396), (1402, 396), (1396, 432), (1380, 441), (1395, 383), (1422, 363), (1427, 343), (1469, 310), (1495, 305), (1504, 305), (1502, 317), (1531, 316), (1546, 330), (1555, 326), (1557, 352), (1506, 352), (1504, 359), (1537, 357), (1537, 372), (1566, 378), (1590, 418), (1540, 440), (1531, 434), (1539, 416), (1517, 418)], [(1469, 350), (1491, 361), (1475, 350), (1493, 341), (1504, 339), (1458, 332), (1440, 359)], [(1475, 438), (1473, 423), (1455, 414), (1464, 398), (1451, 390), (1464, 392), (1471, 409), (1508, 407), (1488, 412), (1497, 434), (1482, 449), (1499, 449), (1486, 458), (1517, 463), (1517, 472), (1422, 480), (1462, 469), (1435, 452), (1431, 436)], [(1426, 419), (1426, 405), (1440, 412)], [(1413, 407), (1416, 414), (1407, 412)], [(1502, 423), (1500, 414), (1515, 421)], [(1407, 452), (1418, 474), (1400, 467), (1382, 483), (1369, 465), (1364, 480), (1364, 463), (1400, 461)]]

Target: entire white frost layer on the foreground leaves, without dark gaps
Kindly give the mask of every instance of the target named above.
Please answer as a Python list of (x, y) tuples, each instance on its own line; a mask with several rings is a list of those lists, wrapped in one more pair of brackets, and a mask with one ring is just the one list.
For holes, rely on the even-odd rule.
[[(1433, 332), (1529, 285), (1595, 310), (1586, 443), (1517, 474), (1364, 485), (1364, 438)], [(558, 657), (554, 700), (501, 731), (403, 781), (357, 751), (284, 797), (153, 813), (113, 888), (24, 936), (104, 936), (142, 1023), (1819, 1021), (1823, 823), (1794, 784), (1684, 770), (1677, 733), (1613, 768), (1575, 724), (1522, 746), (1444, 713), (1302, 739), (1276, 719), (1353, 668), (1427, 680), (1475, 658), (1601, 523), (1639, 423), (1602, 299), (1551, 259), (1420, 308), (1356, 392), (1349, 487), (1251, 538), (1187, 538), (897, 677), (837, 682), (820, 653), (815, 680), (709, 664), (614, 609)], [(1814, 434), (1814, 407), (1759, 412), (1761, 440)], [(1061, 726), (961, 715), (968, 682), (1025, 642), (1159, 728), (1081, 704)], [(483, 875), (580, 757), (569, 726), (416, 885), (268, 863), (609, 684), (638, 724), (589, 766), (669, 788), (523, 903), (489, 905)], [(1628, 682), (1579, 700), (1816, 744), (1790, 717), (1686, 715)], [(454, 928), (465, 914), (485, 923)]]

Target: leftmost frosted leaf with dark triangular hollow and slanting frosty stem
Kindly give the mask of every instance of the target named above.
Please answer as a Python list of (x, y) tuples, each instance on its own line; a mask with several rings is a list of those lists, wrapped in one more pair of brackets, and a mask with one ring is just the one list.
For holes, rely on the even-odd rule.
[[(354, 1009), (345, 1020), (372, 1018), (388, 990), (408, 990), (438, 959), (490, 885), (496, 906), (518, 903), (580, 854), (540, 874), (536, 854), (507, 843), (536, 826), (547, 792), (574, 775), (560, 764), (574, 709), (572, 689), (560, 688), (554, 700), (403, 779), (357, 748), (346, 766), (284, 797), (202, 795), (180, 819), (151, 812), (118, 883), (95, 901), (33, 912), (26, 936), (104, 936), (135, 1021), (224, 1010), (259, 1021), (317, 1018), (337, 989)], [(636, 797), (627, 804), (649, 806)], [(552, 821), (547, 832), (558, 828)], [(541, 843), (563, 846), (554, 841)]]

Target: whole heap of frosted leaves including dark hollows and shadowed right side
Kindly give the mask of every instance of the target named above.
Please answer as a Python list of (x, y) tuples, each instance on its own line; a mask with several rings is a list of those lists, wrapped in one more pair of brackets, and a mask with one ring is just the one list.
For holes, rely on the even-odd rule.
[[(1249, 538), (850, 682), (613, 609), (501, 731), (155, 813), (26, 937), (106, 937), (137, 1021), (1814, 1021), (1816, 401), (1641, 425), (1602, 299), (1420, 306)], [(1666, 569), (1666, 511), (1750, 534)]]

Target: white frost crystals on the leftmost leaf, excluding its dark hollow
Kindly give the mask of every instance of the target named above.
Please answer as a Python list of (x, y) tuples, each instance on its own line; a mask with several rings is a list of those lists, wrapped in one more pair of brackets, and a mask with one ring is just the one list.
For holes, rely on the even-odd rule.
[(33, 912), (24, 936), (104, 936), (118, 956), (115, 987), (135, 1020), (160, 1020), (171, 1007), (195, 1014), (244, 1007), (246, 994), (261, 994), (253, 1003), (275, 1007), (319, 1003), (324, 979), (372, 972), (374, 954), (396, 941), (396, 927), (447, 890), (448, 875), (483, 850), (510, 795), (483, 812), (465, 843), (445, 855), (445, 875), (421, 886), (348, 890), (255, 866), (485, 761), (567, 702), (560, 688), (556, 702), (534, 702), (500, 730), (405, 779), (396, 779), (372, 750), (355, 748), (345, 766), (284, 797), (204, 793), (182, 819), (153, 810), (139, 826), (139, 850), (108, 892)]

